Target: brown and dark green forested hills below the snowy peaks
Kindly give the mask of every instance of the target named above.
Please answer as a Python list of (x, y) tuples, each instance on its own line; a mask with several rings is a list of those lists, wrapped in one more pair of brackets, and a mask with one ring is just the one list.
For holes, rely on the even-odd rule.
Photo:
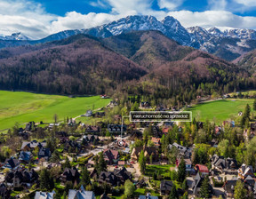
[(180, 45), (158, 30), (106, 38), (79, 34), (0, 50), (1, 90), (58, 94), (118, 90), (161, 98), (190, 93), (191, 99), (204, 84), (209, 94), (222, 92), (225, 86), (230, 91), (235, 86), (243, 89), (244, 79), (250, 79), (244, 68)]

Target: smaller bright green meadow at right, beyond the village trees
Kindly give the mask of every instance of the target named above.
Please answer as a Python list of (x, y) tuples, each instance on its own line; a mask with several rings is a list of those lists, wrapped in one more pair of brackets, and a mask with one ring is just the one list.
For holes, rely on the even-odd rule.
[(200, 121), (205, 121), (207, 118), (215, 123), (221, 123), (230, 117), (237, 116), (239, 111), (244, 111), (246, 104), (252, 108), (253, 99), (228, 99), (216, 100), (197, 104), (194, 107), (187, 108), (186, 110), (192, 111), (193, 117)]

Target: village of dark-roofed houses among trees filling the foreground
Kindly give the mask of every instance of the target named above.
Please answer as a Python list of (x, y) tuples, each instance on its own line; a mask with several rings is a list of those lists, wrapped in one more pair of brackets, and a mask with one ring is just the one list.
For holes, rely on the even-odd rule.
[(243, 131), (232, 138), (241, 128), (232, 121), (120, 123), (113, 115), (106, 123), (115, 107), (105, 108), (102, 117), (90, 115), (93, 124), (67, 119), (19, 127), (20, 147), (5, 147), (1, 157), (2, 198), (237, 198), (241, 188), (256, 197), (255, 164), (230, 149), (227, 138), (254, 139)]

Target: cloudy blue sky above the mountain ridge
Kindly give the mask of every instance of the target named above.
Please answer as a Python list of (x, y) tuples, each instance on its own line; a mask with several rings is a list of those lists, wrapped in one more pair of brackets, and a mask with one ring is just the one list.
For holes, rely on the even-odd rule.
[(0, 34), (37, 39), (134, 14), (171, 15), (186, 28), (256, 29), (256, 0), (0, 0)]

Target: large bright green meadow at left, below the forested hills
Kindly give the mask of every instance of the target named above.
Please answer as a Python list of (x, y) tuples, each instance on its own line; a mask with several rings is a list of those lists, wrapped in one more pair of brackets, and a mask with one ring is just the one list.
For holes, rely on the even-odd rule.
[(68, 98), (30, 92), (0, 91), (0, 130), (10, 128), (15, 123), (29, 121), (52, 123), (54, 114), (63, 121), (64, 117), (76, 117), (88, 109), (105, 107), (109, 101), (110, 99), (100, 99), (100, 96)]

